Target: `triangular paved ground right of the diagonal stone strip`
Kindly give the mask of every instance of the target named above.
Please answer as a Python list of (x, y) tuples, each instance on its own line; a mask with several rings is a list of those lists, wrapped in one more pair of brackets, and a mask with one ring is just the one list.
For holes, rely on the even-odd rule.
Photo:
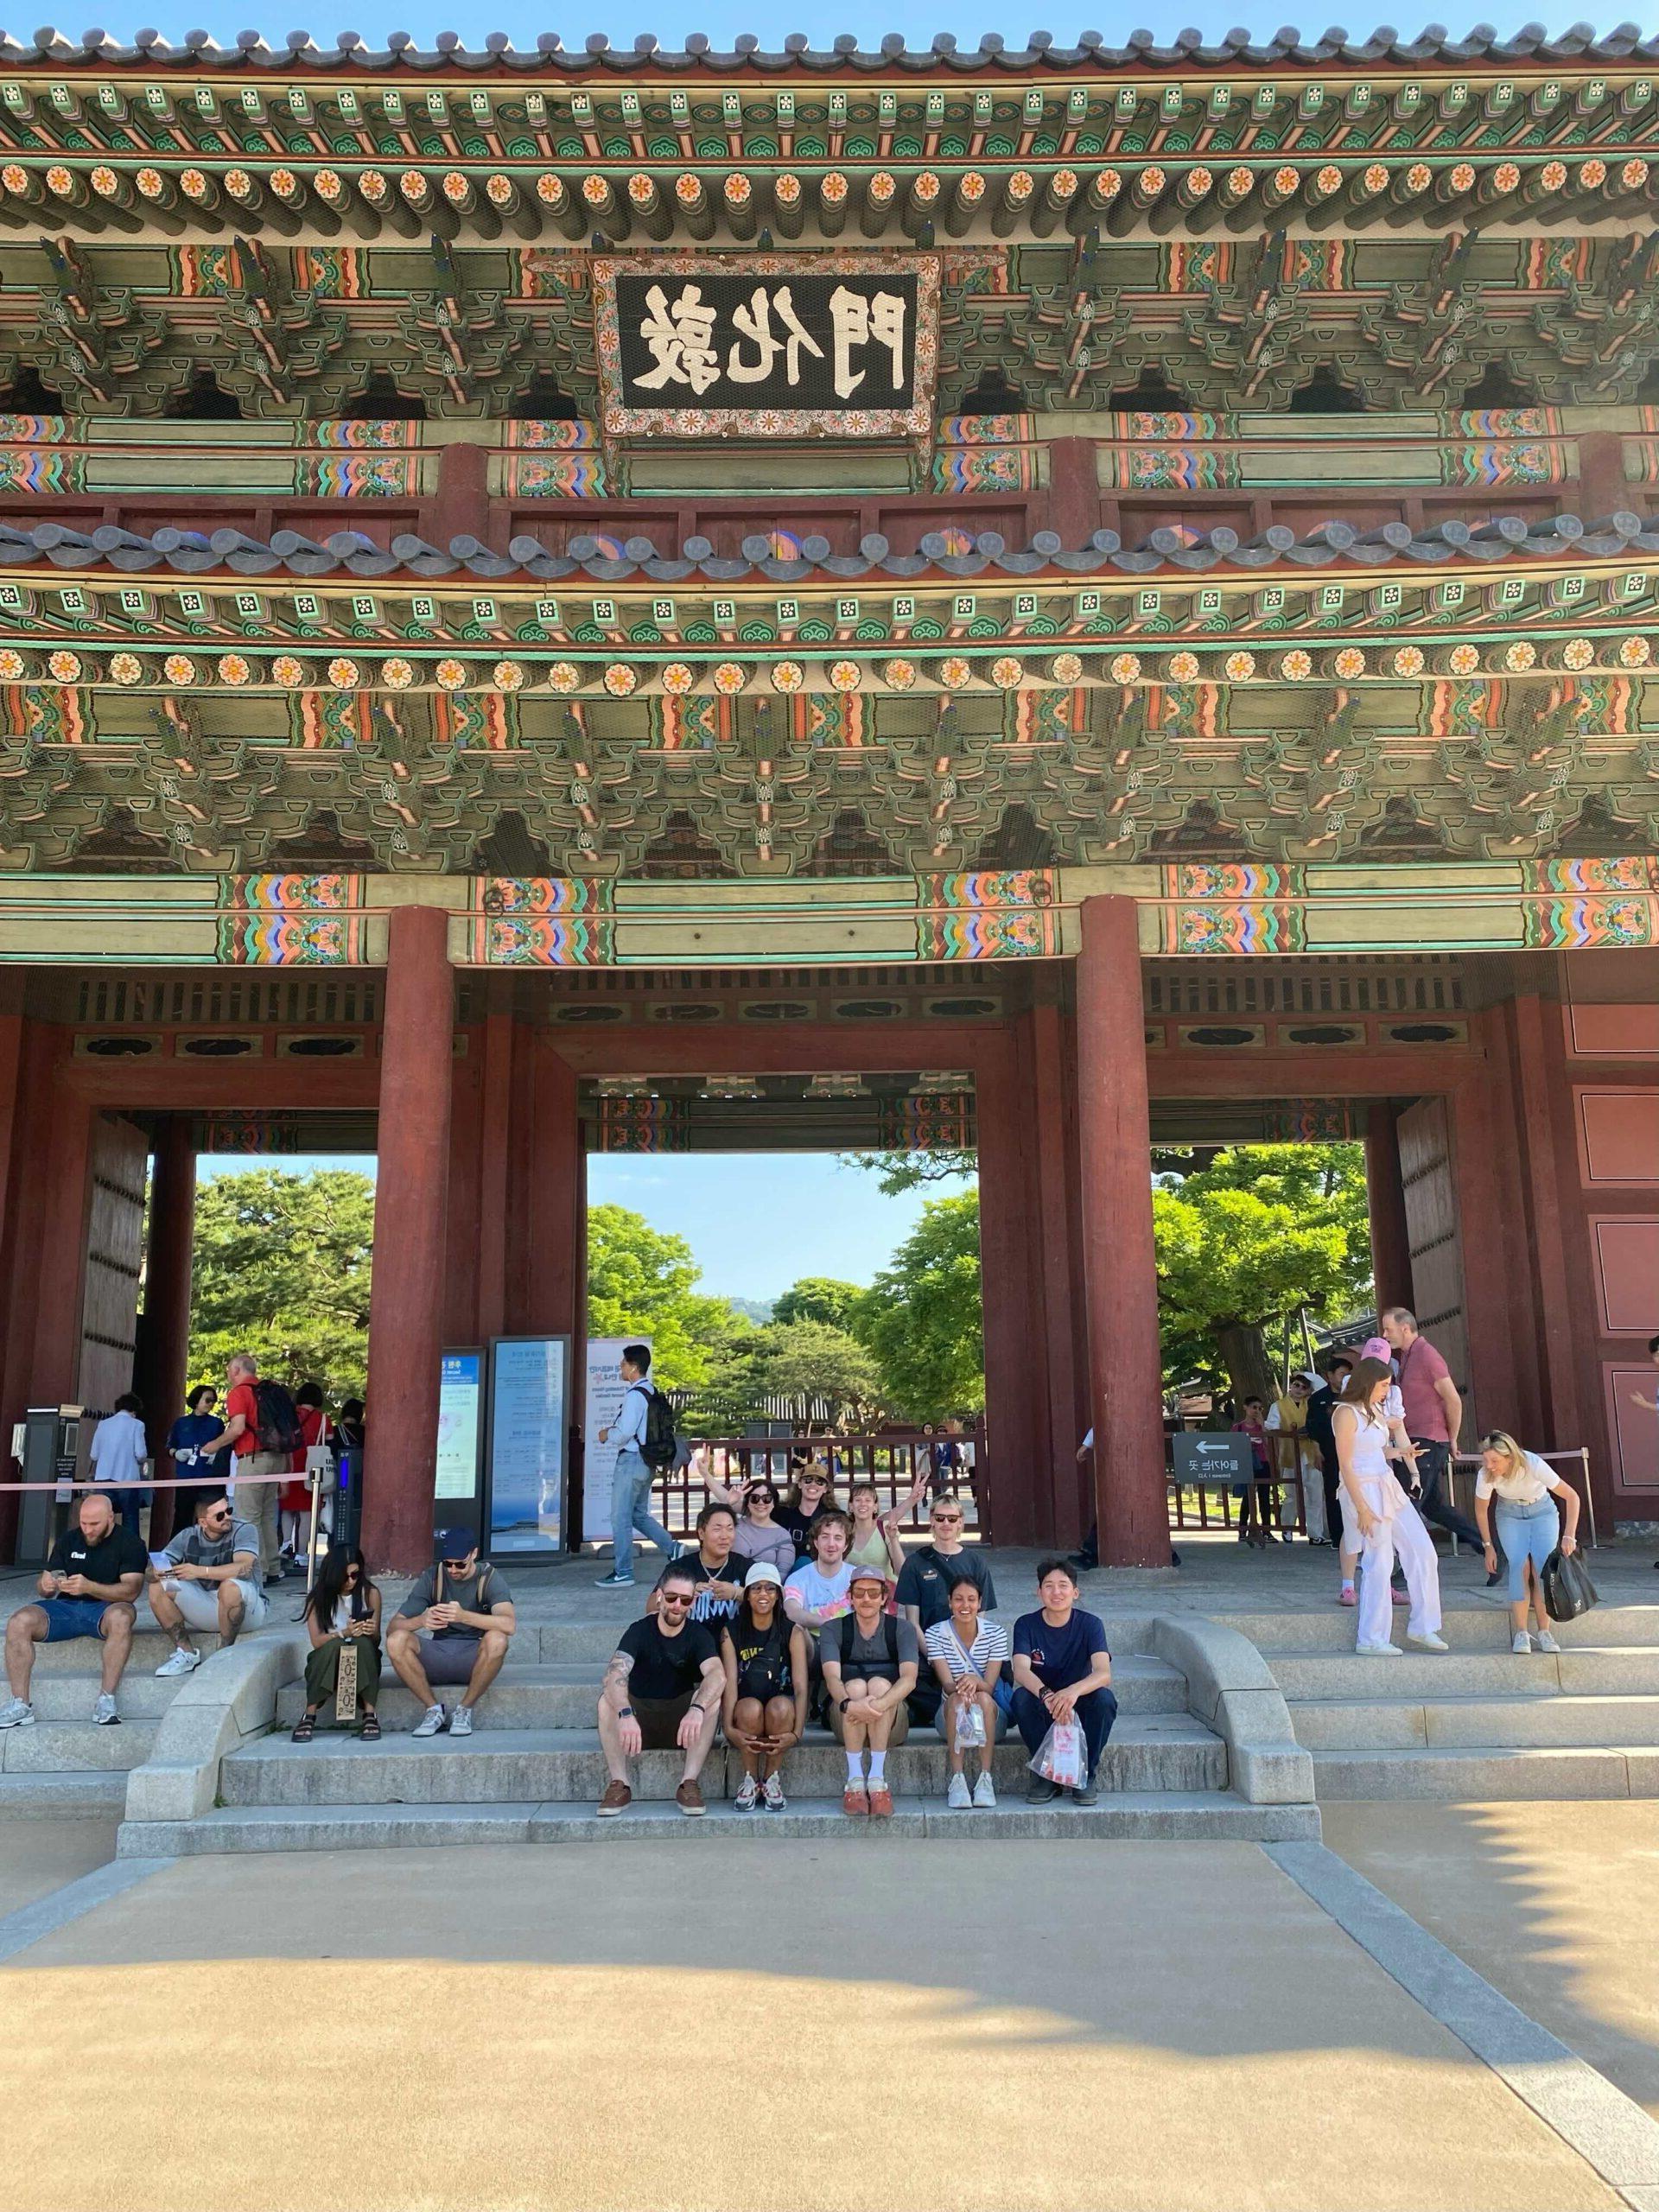
[(1321, 1812), (1334, 1851), (1659, 2119), (1659, 1801)]

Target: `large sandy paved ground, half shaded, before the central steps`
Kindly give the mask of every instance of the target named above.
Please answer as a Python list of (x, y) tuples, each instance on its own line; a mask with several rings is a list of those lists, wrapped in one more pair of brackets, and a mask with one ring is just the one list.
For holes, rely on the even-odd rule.
[[(1254, 1845), (1062, 1869), (872, 1840), (847, 1867), (701, 1843), (170, 1865), (0, 1969), (0, 2205), (1621, 2203)], [(177, 2157), (100, 2170), (84, 2084), (135, 2051), (195, 2117)]]

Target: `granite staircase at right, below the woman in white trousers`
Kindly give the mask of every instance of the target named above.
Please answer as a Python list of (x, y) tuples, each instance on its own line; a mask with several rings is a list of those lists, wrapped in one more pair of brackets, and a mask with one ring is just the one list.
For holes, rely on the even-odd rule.
[(1449, 1652), (1398, 1659), (1360, 1659), (1336, 1606), (1225, 1621), (1285, 1692), (1316, 1798), (1659, 1796), (1659, 1606), (1597, 1606), (1524, 1659), (1502, 1604), (1449, 1613)]

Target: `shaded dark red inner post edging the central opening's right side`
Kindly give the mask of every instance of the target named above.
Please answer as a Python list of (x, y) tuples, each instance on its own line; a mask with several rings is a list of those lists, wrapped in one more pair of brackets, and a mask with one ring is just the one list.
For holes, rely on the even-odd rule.
[[(1020, 1084), (1013, 1031), (987, 1037), (973, 1068), (980, 1135), (980, 1303), (984, 1312), (984, 1449), (991, 1533), (998, 1544), (1040, 1542), (1040, 1422), (1044, 1332), (1033, 1312), (1031, 1099)], [(940, 1407), (949, 1411), (949, 1407)]]

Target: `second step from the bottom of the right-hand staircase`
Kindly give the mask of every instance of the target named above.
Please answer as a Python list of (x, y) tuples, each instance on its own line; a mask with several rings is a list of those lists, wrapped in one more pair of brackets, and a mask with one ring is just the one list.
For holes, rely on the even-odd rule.
[[(1396, 1670), (1398, 1672), (1398, 1670)], [(1290, 1708), (1307, 1750), (1462, 1750), (1522, 1745), (1659, 1747), (1659, 1697), (1376, 1697), (1301, 1699)]]

